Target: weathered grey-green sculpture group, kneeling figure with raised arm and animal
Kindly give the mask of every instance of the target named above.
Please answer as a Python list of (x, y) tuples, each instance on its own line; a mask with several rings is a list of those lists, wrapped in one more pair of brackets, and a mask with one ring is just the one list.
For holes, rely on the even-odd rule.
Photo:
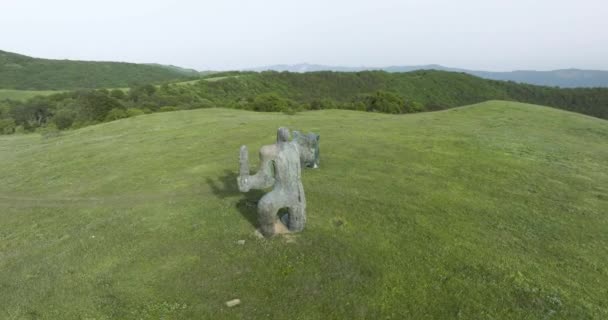
[(279, 128), (277, 143), (260, 148), (260, 166), (255, 175), (249, 175), (249, 159), (246, 146), (241, 146), (239, 156), (239, 190), (273, 190), (258, 202), (260, 231), (270, 237), (275, 234), (277, 212), (288, 209), (281, 219), (291, 232), (304, 229), (306, 223), (306, 197), (301, 181), (301, 167), (319, 166), (319, 135), (303, 135), (294, 131), (293, 141), (289, 141), (289, 129)]

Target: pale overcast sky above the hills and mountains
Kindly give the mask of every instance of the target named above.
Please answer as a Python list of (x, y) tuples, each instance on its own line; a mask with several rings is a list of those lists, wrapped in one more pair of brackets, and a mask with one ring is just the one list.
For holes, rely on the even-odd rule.
[(608, 70), (608, 0), (0, 0), (0, 50), (199, 70)]

